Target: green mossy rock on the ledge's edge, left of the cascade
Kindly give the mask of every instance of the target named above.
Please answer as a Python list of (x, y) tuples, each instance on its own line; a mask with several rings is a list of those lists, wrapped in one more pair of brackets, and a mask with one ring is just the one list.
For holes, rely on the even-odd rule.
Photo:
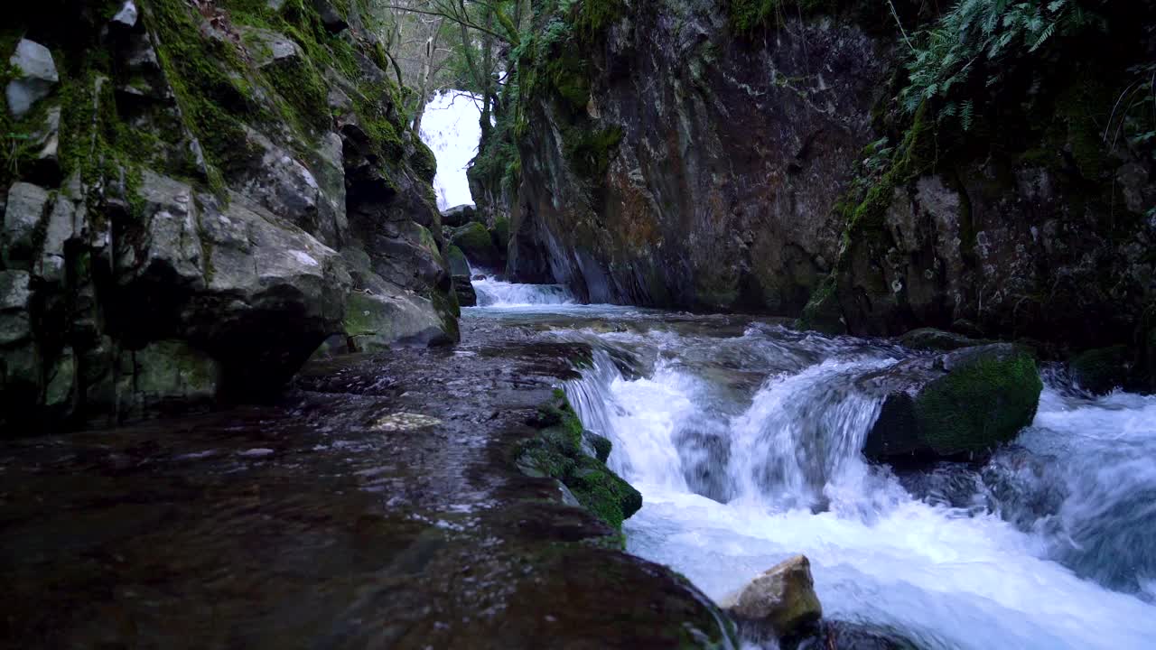
[[(562, 481), (583, 507), (616, 530), (643, 507), (638, 490), (610, 471), (603, 460), (583, 451), (581, 421), (562, 391), (556, 391), (553, 399), (539, 408), (532, 424), (540, 434), (518, 453), (517, 463), (523, 472)], [(603, 446), (609, 456), (608, 444)]]

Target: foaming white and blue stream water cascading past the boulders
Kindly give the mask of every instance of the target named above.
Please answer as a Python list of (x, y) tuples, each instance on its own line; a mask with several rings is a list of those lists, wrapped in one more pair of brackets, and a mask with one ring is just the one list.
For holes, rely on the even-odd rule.
[(593, 347), (565, 390), (643, 493), (628, 548), (710, 597), (803, 553), (827, 618), (920, 648), (1156, 648), (1156, 398), (1048, 375), (987, 464), (896, 474), (859, 452), (880, 408), (859, 379), (917, 353), (475, 287), (468, 316)]

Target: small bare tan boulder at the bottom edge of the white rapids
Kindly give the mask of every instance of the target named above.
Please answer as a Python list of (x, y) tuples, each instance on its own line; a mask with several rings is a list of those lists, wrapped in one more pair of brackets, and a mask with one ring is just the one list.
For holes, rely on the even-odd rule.
[(823, 618), (806, 555), (795, 555), (771, 567), (721, 605), (756, 631), (768, 631), (763, 628), (770, 626), (780, 638), (798, 636)]

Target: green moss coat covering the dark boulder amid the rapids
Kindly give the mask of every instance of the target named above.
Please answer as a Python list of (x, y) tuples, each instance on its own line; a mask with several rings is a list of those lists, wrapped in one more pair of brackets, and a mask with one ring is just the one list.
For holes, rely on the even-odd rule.
[(1015, 438), (1036, 416), (1044, 384), (1031, 355), (1020, 349), (978, 354), (914, 400), (921, 438), (941, 456), (992, 449)]

